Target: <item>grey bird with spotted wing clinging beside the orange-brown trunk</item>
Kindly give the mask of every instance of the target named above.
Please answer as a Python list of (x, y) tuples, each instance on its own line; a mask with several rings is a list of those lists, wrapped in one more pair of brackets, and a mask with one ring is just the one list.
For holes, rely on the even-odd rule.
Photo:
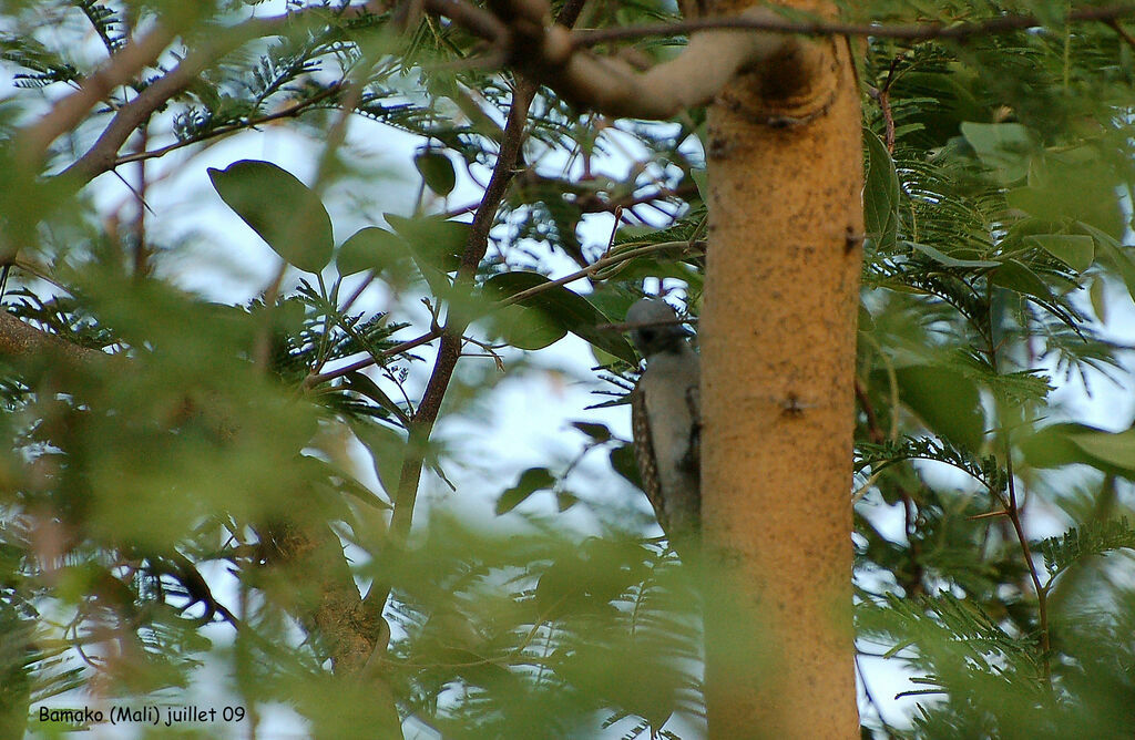
[(646, 360), (631, 392), (634, 461), (658, 524), (686, 561), (695, 556), (701, 529), (701, 363), (665, 301), (636, 302), (627, 325)]

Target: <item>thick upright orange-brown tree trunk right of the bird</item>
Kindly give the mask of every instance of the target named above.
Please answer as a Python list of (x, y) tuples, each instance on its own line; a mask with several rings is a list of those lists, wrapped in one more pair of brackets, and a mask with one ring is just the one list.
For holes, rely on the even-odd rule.
[[(716, 3), (716, 14), (735, 3)], [(826, 3), (790, 2), (830, 12)], [(735, 79), (709, 111), (701, 312), (712, 738), (855, 738), (852, 380), (863, 234), (844, 39)]]

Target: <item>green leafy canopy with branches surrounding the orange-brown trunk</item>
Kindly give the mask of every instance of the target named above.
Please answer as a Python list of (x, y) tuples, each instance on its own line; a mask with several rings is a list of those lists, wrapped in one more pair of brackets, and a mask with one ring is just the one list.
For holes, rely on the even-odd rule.
[[(612, 325), (703, 305), (706, 103), (813, 42), (864, 111), (856, 478), (826, 491), (864, 732), (1129, 733), (1135, 8), (688, 5), (0, 3), (3, 737), (166, 704), (239, 708), (203, 733), (283, 704), (329, 737), (704, 734), (726, 605), (627, 427), (579, 409), (480, 480), (436, 432), (569, 335), (627, 409)], [(161, 205), (185, 173), (233, 229)], [(267, 277), (220, 259), (253, 243)]]

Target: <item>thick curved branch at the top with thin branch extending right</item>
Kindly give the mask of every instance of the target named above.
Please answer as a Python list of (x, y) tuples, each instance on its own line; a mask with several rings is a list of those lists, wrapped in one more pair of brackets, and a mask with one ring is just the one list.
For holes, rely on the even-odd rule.
[[(784, 18), (771, 8), (753, 7), (737, 16), (681, 23), (571, 32), (548, 25), (546, 0), (499, 0), (499, 20), (457, 1), (427, 2), (430, 12), (445, 15), (505, 51), (506, 65), (553, 87), (579, 107), (616, 117), (666, 119), (683, 108), (708, 103), (738, 72), (748, 67), (784, 67), (773, 76), (804, 89), (821, 64), (822, 48), (802, 36), (859, 35), (906, 40), (965, 40), (1043, 26), (1033, 15), (1007, 15), (976, 23), (882, 24), (830, 23)], [(1082, 8), (1068, 12), (1068, 23), (1135, 15), (1135, 6)], [(501, 23), (503, 22), (503, 24)], [(502, 25), (504, 26), (502, 28)], [(749, 31), (755, 33), (733, 33)], [(647, 72), (585, 50), (611, 41), (690, 33), (683, 52)], [(788, 98), (794, 90), (780, 94)], [(785, 94), (787, 93), (787, 94)]]

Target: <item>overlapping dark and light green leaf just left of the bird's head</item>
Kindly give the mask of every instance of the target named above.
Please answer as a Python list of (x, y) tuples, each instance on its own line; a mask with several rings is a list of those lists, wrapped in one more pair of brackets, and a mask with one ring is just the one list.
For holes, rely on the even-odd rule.
[[(487, 297), (502, 301), (550, 281), (538, 272), (518, 270), (489, 278), (484, 291)], [(596, 328), (609, 319), (587, 298), (562, 285), (494, 311), (490, 321), (501, 336), (522, 350), (540, 350), (571, 331), (621, 360), (637, 361), (634, 351), (621, 334)]]

